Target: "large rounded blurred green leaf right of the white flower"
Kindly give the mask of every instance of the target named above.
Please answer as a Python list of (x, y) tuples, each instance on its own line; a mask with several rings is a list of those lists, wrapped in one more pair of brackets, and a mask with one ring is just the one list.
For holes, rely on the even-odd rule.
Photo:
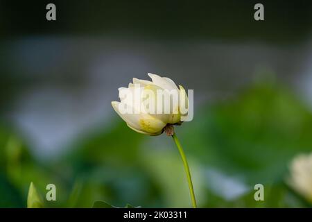
[(280, 85), (252, 85), (187, 124), (182, 144), (193, 147), (200, 162), (241, 174), (250, 185), (283, 180), (293, 156), (312, 149), (311, 111)]

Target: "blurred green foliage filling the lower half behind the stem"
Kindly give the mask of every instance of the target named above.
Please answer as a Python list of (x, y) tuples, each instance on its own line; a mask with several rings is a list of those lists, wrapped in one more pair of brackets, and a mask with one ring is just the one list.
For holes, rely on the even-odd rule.
[[(39, 201), (31, 186), (28, 206), (190, 207), (187, 181), (170, 137), (147, 137), (116, 117), (114, 124), (80, 136), (66, 153), (37, 160), (26, 139), (0, 127), (0, 207), (25, 207), (28, 185), (40, 193), (53, 183), (58, 200)], [(312, 151), (312, 114), (288, 89), (257, 84), (227, 101), (195, 110), (175, 127), (187, 154), (199, 207), (308, 207), (285, 185), (288, 165)], [(216, 171), (219, 182), (207, 172)], [(239, 184), (235, 195), (224, 181)], [(216, 183), (216, 185), (214, 185)], [(254, 185), (265, 200), (254, 200)], [(226, 189), (226, 190), (223, 190)], [(31, 196), (31, 199), (29, 199)], [(94, 202), (95, 201), (95, 202)], [(131, 207), (126, 205), (125, 207)]]

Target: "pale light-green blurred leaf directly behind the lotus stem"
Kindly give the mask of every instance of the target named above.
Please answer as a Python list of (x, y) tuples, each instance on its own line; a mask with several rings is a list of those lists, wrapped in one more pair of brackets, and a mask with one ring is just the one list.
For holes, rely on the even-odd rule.
[[(171, 142), (170, 150), (160, 150), (160, 147), (148, 146), (141, 151), (141, 161), (144, 169), (159, 186), (159, 198), (162, 198), (164, 207), (191, 207), (189, 187), (185, 176), (180, 154), (171, 137), (159, 137)], [(186, 150), (187, 152), (187, 150)], [(207, 198), (204, 194), (203, 181), (200, 167), (187, 155), (190, 171), (192, 173), (193, 186), (197, 196), (198, 206), (201, 206)]]

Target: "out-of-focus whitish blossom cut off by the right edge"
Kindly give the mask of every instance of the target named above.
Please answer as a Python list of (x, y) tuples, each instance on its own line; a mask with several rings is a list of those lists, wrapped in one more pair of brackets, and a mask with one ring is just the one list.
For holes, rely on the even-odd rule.
[(291, 163), (291, 178), (288, 183), (312, 203), (312, 153), (295, 157)]

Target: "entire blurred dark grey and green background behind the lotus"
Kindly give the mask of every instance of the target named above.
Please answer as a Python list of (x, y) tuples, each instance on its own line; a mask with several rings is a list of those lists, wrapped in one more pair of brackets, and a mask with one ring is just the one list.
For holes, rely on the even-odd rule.
[(26, 207), (31, 181), (56, 185), (46, 207), (190, 207), (172, 139), (110, 105), (148, 72), (194, 89), (175, 130), (199, 207), (306, 207), (286, 180), (312, 151), (312, 2), (261, 1), (262, 22), (255, 3), (1, 0), (0, 207)]

